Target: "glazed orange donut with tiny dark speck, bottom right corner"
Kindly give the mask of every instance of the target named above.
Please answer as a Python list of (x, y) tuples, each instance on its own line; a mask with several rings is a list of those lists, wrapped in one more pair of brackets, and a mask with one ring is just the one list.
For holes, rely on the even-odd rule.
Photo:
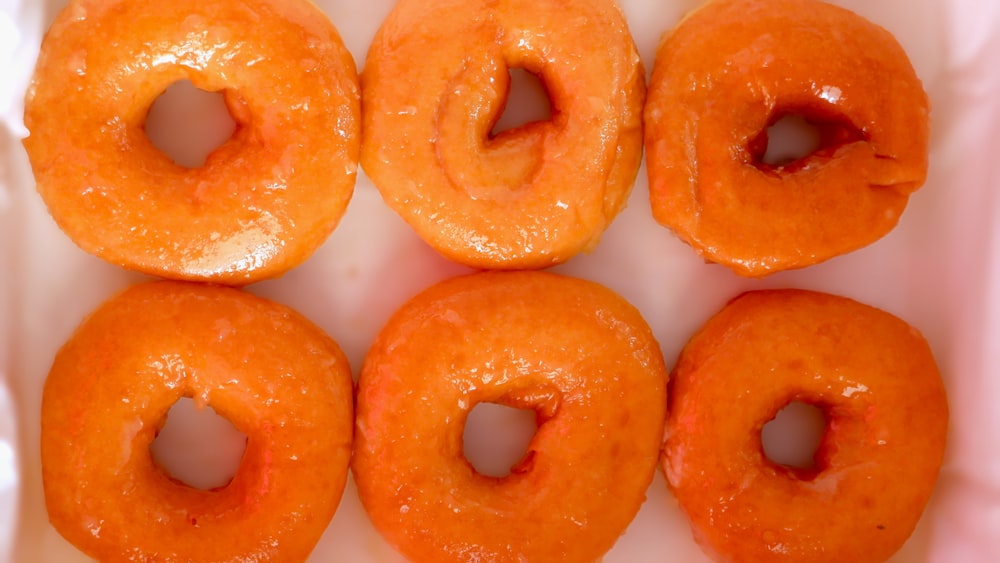
[[(811, 468), (763, 453), (761, 429), (793, 401), (826, 418)], [(668, 410), (664, 473), (717, 561), (885, 561), (931, 495), (948, 426), (915, 329), (800, 290), (747, 293), (709, 320), (681, 352)]]

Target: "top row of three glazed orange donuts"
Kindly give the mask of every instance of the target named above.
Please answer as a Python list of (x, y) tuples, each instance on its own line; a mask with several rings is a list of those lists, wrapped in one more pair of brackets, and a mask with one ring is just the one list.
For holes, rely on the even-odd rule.
[[(443, 255), (525, 269), (598, 243), (645, 147), (655, 218), (746, 276), (877, 240), (926, 176), (928, 102), (906, 53), (817, 0), (706, 4), (665, 36), (648, 92), (613, 0), (402, 0), (360, 81), (304, 0), (92, 4), (72, 0), (45, 37), (24, 145), (80, 247), (157, 276), (282, 274), (333, 231), (359, 161)], [(540, 77), (552, 117), (493, 135), (509, 68)], [(224, 92), (237, 123), (195, 169), (143, 130), (183, 79)], [(817, 126), (819, 148), (767, 164), (787, 114)]]

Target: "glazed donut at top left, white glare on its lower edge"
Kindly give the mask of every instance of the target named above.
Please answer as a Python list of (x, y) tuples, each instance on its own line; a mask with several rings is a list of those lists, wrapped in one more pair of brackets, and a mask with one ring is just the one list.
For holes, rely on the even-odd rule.
[[(143, 131), (172, 83), (221, 91), (236, 122), (200, 168)], [(280, 275), (334, 229), (354, 188), (350, 53), (306, 0), (71, 0), (25, 102), (38, 191), (84, 250), (175, 279)]]

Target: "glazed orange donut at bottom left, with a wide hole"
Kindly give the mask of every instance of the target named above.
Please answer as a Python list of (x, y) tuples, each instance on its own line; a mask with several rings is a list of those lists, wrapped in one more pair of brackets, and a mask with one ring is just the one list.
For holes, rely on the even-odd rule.
[[(247, 435), (222, 488), (153, 461), (182, 397)], [(83, 322), (45, 382), (49, 519), (99, 561), (304, 561), (344, 489), (352, 399), (340, 349), (290, 309), (207, 284), (134, 286)]]

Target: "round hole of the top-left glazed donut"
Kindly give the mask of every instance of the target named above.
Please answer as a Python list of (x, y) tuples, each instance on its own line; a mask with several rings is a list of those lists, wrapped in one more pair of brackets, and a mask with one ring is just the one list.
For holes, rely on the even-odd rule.
[(236, 122), (222, 92), (207, 92), (181, 80), (150, 106), (145, 131), (153, 146), (175, 164), (198, 168), (233, 136)]

